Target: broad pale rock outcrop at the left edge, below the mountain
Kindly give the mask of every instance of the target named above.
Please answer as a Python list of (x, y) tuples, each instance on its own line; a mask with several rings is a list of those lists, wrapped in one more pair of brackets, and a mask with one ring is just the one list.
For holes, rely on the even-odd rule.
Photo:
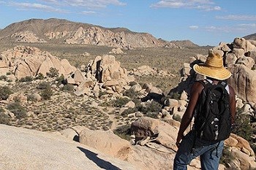
[(22, 77), (36, 77), (39, 73), (46, 76), (50, 69), (56, 69), (64, 76), (75, 71), (66, 60), (60, 60), (47, 51), (37, 47), (17, 46), (0, 54), (1, 74), (14, 74), (20, 80)]

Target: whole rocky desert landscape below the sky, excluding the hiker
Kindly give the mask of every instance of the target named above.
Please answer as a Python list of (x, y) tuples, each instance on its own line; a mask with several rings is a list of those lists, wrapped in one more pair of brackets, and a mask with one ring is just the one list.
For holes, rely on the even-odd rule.
[(192, 66), (211, 50), (236, 91), (219, 169), (256, 169), (255, 34), (201, 47), (55, 18), (0, 30), (0, 169), (172, 169)]

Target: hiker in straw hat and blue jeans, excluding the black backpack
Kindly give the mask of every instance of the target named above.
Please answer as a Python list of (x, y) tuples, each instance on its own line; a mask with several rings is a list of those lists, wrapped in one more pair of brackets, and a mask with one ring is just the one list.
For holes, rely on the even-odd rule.
[[(227, 139), (227, 137), (230, 136), (231, 126), (233, 125), (236, 116), (236, 98), (233, 88), (230, 85), (226, 85), (225, 88), (223, 88), (224, 90), (227, 90), (227, 101), (229, 105), (229, 108), (227, 108), (227, 110), (229, 110), (227, 116), (230, 117), (230, 125), (224, 126), (225, 129), (219, 131), (219, 133), (225, 133), (226, 136), (223, 139), (201, 139), (200, 135), (197, 133), (199, 129), (195, 129), (196, 120), (192, 130), (189, 131), (189, 133), (185, 136), (184, 131), (187, 129), (189, 123), (192, 121), (192, 118), (195, 116), (197, 103), (203, 96), (202, 91), (204, 91), (203, 89), (206, 87), (206, 85), (203, 85), (203, 83), (208, 83), (208, 85), (217, 85), (220, 82), (225, 82), (223, 80), (227, 80), (227, 78), (231, 76), (231, 73), (225, 69), (223, 66), (222, 56), (217, 53), (209, 53), (206, 63), (195, 64), (193, 69), (198, 74), (206, 76), (206, 80), (201, 82), (196, 81), (192, 85), (189, 104), (181, 119), (181, 125), (176, 139), (178, 151), (174, 159), (173, 169), (187, 169), (187, 165), (192, 161), (192, 159), (200, 156), (201, 169), (217, 170), (219, 167), (219, 158), (222, 156), (224, 139)], [(227, 83), (225, 82), (224, 84)], [(200, 95), (201, 93), (202, 95)], [(198, 114), (203, 113), (198, 112)], [(212, 123), (215, 123), (214, 121)], [(218, 133), (218, 131), (215, 132)]]

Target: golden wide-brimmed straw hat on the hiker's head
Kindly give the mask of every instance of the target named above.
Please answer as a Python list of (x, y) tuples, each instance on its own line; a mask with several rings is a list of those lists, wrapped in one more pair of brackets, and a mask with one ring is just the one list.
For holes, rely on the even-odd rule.
[(206, 63), (195, 64), (193, 69), (198, 74), (217, 80), (226, 80), (231, 76), (231, 72), (223, 66), (223, 59), (219, 53), (209, 53)]

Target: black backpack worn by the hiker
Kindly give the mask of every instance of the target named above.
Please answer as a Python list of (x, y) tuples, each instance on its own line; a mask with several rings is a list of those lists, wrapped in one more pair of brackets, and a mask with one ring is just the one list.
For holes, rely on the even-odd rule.
[(200, 93), (194, 110), (194, 129), (197, 138), (208, 141), (222, 141), (230, 136), (230, 96), (226, 82), (217, 85), (200, 80), (204, 88)]

